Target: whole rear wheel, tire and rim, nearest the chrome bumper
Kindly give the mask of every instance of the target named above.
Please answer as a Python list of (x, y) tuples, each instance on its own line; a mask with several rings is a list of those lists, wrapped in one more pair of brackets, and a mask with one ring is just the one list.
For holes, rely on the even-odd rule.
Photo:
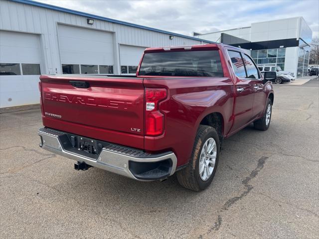
[(219, 146), (216, 130), (207, 125), (199, 125), (191, 159), (187, 167), (176, 172), (179, 184), (193, 191), (207, 188), (217, 170)]

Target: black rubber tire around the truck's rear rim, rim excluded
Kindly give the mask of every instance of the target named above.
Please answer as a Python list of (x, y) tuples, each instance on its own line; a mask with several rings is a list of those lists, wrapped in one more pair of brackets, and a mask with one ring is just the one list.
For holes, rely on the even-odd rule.
[[(208, 178), (206, 181), (203, 181), (199, 175), (199, 159), (204, 142), (206, 142), (206, 140), (210, 137), (212, 137), (216, 142), (217, 155), (215, 166), (210, 178)], [(199, 125), (189, 163), (185, 168), (176, 172), (179, 184), (193, 191), (201, 191), (207, 188), (211, 184), (217, 170), (219, 150), (220, 143), (217, 131), (213, 127)]]

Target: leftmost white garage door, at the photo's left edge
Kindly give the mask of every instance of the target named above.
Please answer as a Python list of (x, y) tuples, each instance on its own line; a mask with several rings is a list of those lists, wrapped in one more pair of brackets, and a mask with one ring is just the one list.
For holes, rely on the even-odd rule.
[(0, 31), (0, 108), (39, 103), (40, 38)]

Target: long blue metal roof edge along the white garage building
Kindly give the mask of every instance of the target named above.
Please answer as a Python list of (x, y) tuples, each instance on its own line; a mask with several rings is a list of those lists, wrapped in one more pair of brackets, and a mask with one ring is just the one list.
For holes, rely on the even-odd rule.
[(206, 43), (216, 43), (213, 41), (208, 41), (208, 40), (204, 40), (204, 39), (200, 39), (200, 38), (196, 38), (196, 37), (186, 36), (186, 35), (182, 35), (182, 34), (178, 34), (178, 33), (174, 33), (174, 32), (164, 31), (164, 30), (153, 28), (153, 27), (142, 26), (142, 25), (126, 22), (126, 21), (115, 20), (112, 18), (104, 17), (104, 16), (89, 14), (89, 13), (85, 13), (82, 11), (72, 10), (72, 9), (68, 9), (68, 8), (60, 7), (60, 6), (54, 6), (54, 5), (50, 5), (50, 4), (46, 4), (46, 3), (42, 3), (42, 2), (38, 2), (38, 1), (32, 1), (32, 0), (10, 0), (10, 1), (19, 2), (19, 3), (23, 3), (23, 4), (28, 4), (28, 5), (33, 5), (33, 6), (38, 6), (38, 7), (43, 7), (43, 8), (47, 8), (47, 9), (51, 9), (51, 10), (56, 10), (56, 11), (67, 12), (67, 13), (85, 16), (85, 17), (89, 17), (89, 18), (93, 18), (93, 19), (97, 19), (97, 20), (109, 21), (109, 22), (113, 22), (113, 23), (117, 23), (117, 24), (126, 25), (126, 26), (141, 28), (141, 29), (145, 29), (145, 30), (156, 31), (156, 32), (169, 34), (172, 36), (179, 36), (179, 37), (183, 37), (183, 38), (188, 38), (188, 39), (192, 39), (192, 40), (196, 40), (196, 41), (203, 41)]

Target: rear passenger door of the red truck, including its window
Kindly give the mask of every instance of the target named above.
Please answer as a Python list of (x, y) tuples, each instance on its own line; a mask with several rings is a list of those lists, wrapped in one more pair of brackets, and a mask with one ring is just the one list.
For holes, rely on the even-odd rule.
[(247, 79), (244, 61), (241, 53), (234, 50), (228, 50), (232, 68), (236, 76), (235, 84), (235, 105), (234, 105), (234, 124), (231, 132), (237, 131), (247, 124), (253, 116), (254, 101), (254, 82)]

